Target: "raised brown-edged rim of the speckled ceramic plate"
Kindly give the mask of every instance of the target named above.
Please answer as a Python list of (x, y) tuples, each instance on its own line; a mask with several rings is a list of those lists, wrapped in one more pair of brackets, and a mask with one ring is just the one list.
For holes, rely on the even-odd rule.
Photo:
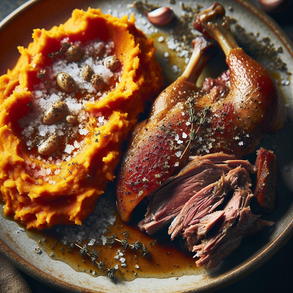
[[(30, 0), (20, 6), (18, 9), (13, 11), (11, 14), (9, 14), (6, 18), (4, 18), (0, 22), (0, 32), (1, 30), (11, 21), (13, 21), (14, 18), (16, 18), (18, 15), (23, 13), (26, 9), (30, 8), (40, 0)], [(281, 40), (281, 42), (285, 45), (289, 53), (293, 57), (293, 44), (285, 35), (285, 33), (282, 31), (279, 25), (275, 23), (267, 14), (265, 14), (263, 11), (261, 11), (259, 8), (257, 8), (255, 5), (251, 4), (250, 2), (246, 0), (236, 0), (239, 4), (241, 4), (243, 7), (251, 11), (255, 16), (260, 18), (266, 25), (270, 27), (270, 29), (277, 35), (277, 37)], [(247, 261), (243, 265), (241, 265), (239, 268), (230, 271), (224, 275), (221, 275), (220, 277), (214, 278), (209, 284), (202, 286), (201, 288), (190, 288), (187, 290), (180, 290), (176, 292), (182, 292), (182, 293), (191, 293), (191, 292), (211, 292), (214, 291), (216, 288), (220, 289), (222, 287), (225, 287), (227, 285), (230, 285), (241, 278), (245, 277), (246, 275), (250, 274), (257, 268), (259, 268), (261, 265), (263, 265), (266, 261), (268, 261), (273, 255), (277, 253), (286, 243), (287, 241), (293, 236), (293, 218), (289, 222), (289, 224), (286, 226), (286, 228), (278, 235), (278, 237), (263, 251), (261, 251), (256, 257), (253, 259)], [(38, 268), (34, 267), (32, 264), (28, 263), (27, 261), (23, 260), (17, 253), (15, 253), (13, 250), (11, 250), (8, 246), (6, 246), (1, 240), (0, 240), (0, 251), (3, 255), (6, 256), (11, 262), (20, 270), (27, 273), (31, 277), (39, 280), (40, 282), (50, 286), (54, 287), (56, 289), (66, 291), (66, 292), (82, 292), (82, 293), (91, 293), (96, 292), (100, 293), (99, 291), (92, 291), (88, 289), (84, 289), (78, 286), (71, 285), (69, 283), (63, 282), (61, 280), (58, 280), (51, 275), (46, 274), (45, 272), (42, 272)], [(173, 292), (173, 293), (176, 293)]]

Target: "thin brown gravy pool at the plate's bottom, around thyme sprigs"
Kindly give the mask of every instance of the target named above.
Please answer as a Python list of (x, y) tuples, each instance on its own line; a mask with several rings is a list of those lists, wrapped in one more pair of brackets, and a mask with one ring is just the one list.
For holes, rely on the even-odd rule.
[[(112, 248), (108, 244), (105, 244), (105, 246), (98, 244), (88, 246), (90, 250), (92, 247), (95, 247), (96, 251), (99, 252), (98, 261), (105, 261), (105, 265), (108, 268), (118, 264), (118, 270), (115, 274), (116, 278), (131, 281), (137, 277), (181, 277), (183, 275), (195, 274), (196, 270), (198, 271), (197, 273), (200, 273), (201, 269), (196, 267), (195, 260), (193, 259), (194, 253), (184, 251), (180, 246), (179, 238), (171, 242), (166, 229), (154, 236), (149, 236), (135, 226), (122, 223), (116, 214), (115, 224), (108, 227), (105, 235), (110, 236), (117, 233), (117, 238), (122, 240), (126, 238), (126, 234), (121, 234), (124, 231), (129, 231), (127, 233), (129, 235), (127, 238), (128, 243), (132, 244), (132, 242), (139, 240), (139, 242), (147, 246), (149, 253), (146, 257), (142, 257), (139, 251), (133, 251), (130, 247), (127, 251), (123, 252), (121, 243), (117, 241)], [(67, 263), (77, 272), (85, 272), (93, 275), (93, 277), (105, 275), (103, 270), (99, 270), (97, 265), (92, 264), (91, 259), (87, 255), (79, 255), (79, 248), (68, 249), (69, 245), (62, 244), (60, 239), (56, 239), (56, 235), (53, 235), (52, 232), (26, 230), (26, 233), (28, 237), (38, 243), (43, 253), (47, 253), (50, 258)], [(45, 241), (44, 238), (46, 239)], [(88, 244), (88, 241), (82, 244)], [(119, 256), (118, 259), (115, 259), (114, 257), (117, 255), (116, 253), (119, 248), (124, 256)], [(119, 261), (121, 257), (125, 258), (126, 267), (121, 267), (121, 262)], [(136, 265), (139, 268), (136, 268)], [(135, 273), (137, 274), (135, 275)]]

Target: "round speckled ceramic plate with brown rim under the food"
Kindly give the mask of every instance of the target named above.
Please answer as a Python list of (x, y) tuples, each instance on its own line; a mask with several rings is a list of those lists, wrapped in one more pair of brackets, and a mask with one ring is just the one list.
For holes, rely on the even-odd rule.
[[(149, 1), (154, 2), (155, 1)], [(176, 1), (179, 2), (179, 1)], [(184, 1), (185, 4), (201, 4), (208, 7), (212, 1)], [(276, 225), (271, 230), (266, 229), (253, 239), (245, 240), (241, 246), (224, 260), (219, 267), (206, 271), (195, 270), (194, 275), (175, 277), (137, 278), (130, 282), (111, 282), (107, 277), (93, 278), (83, 272), (76, 272), (69, 265), (50, 258), (46, 253), (32, 253), (37, 243), (29, 238), (25, 232), (19, 232), (18, 224), (0, 216), (0, 251), (10, 259), (19, 269), (31, 275), (41, 282), (63, 291), (72, 292), (204, 292), (219, 289), (232, 282), (236, 282), (245, 275), (251, 273), (271, 258), (293, 234), (293, 157), (292, 157), (292, 119), (293, 119), (293, 81), (286, 72), (293, 72), (293, 46), (284, 35), (280, 27), (265, 13), (253, 6), (248, 1), (221, 1), (226, 8), (227, 15), (237, 19), (240, 27), (246, 28), (246, 32), (258, 35), (258, 40), (266, 39), (279, 49), (279, 56), (287, 70), (271, 70), (277, 79), (288, 111), (288, 119), (285, 127), (277, 134), (267, 135), (261, 142), (261, 146), (272, 149), (277, 156), (279, 170), (278, 195), (279, 203), (276, 212), (266, 217), (273, 220)], [(104, 13), (109, 9), (113, 14), (129, 13), (126, 8), (129, 1), (39, 1), (31, 0), (11, 13), (0, 23), (0, 74), (6, 73), (7, 68), (12, 68), (18, 58), (18, 45), (27, 46), (33, 28), (50, 29), (53, 25), (59, 25), (66, 21), (74, 8), (101, 8)], [(178, 3), (179, 4), (179, 3)], [(170, 4), (168, 1), (160, 1), (161, 6), (171, 6), (179, 13), (178, 4)], [(144, 16), (142, 16), (144, 17)], [(249, 23), (249, 27), (247, 24)], [(234, 29), (237, 29), (235, 26)], [(161, 31), (159, 30), (159, 33)], [(163, 33), (163, 32), (162, 32)], [(241, 34), (237, 34), (241, 39)], [(255, 46), (248, 38), (241, 40), (244, 49)], [(282, 52), (281, 52), (282, 50)], [(272, 60), (265, 60), (262, 54), (253, 56), (272, 69)], [(214, 74), (209, 67), (209, 73)], [(206, 73), (207, 74), (207, 71)], [(170, 77), (172, 79), (172, 77)], [(289, 83), (289, 84), (288, 84)], [(0, 208), (3, 204), (0, 204)], [(18, 231), (18, 233), (16, 233)]]

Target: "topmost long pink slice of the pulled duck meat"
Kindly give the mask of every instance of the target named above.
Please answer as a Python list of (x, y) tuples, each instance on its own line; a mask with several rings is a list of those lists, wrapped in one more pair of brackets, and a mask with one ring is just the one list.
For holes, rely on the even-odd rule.
[(221, 176), (241, 166), (249, 173), (255, 168), (243, 160), (223, 153), (194, 156), (177, 175), (169, 177), (159, 188), (148, 195), (149, 205), (140, 229), (154, 234), (172, 222), (191, 197), (206, 186), (217, 182)]

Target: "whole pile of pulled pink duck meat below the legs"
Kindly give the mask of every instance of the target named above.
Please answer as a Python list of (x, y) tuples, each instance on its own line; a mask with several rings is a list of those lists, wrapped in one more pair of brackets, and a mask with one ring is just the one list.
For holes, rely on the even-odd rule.
[(199, 258), (197, 266), (215, 267), (244, 237), (274, 224), (251, 212), (249, 174), (256, 171), (248, 161), (227, 154), (194, 156), (178, 175), (148, 195), (147, 214), (139, 227), (152, 234), (172, 221), (171, 239), (187, 240)]

